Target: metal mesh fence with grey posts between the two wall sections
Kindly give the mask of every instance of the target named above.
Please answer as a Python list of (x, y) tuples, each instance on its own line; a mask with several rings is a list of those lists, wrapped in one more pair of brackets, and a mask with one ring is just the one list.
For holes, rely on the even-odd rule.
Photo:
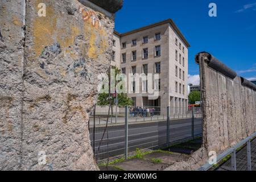
[[(155, 109), (155, 110), (154, 110)], [(169, 107), (131, 108), (118, 113), (95, 111), (90, 117), (90, 140), (98, 162), (114, 156), (126, 156), (137, 148), (169, 146), (178, 140), (202, 133), (201, 109), (191, 108), (184, 113), (171, 114)], [(169, 117), (167, 117), (169, 116)], [(108, 123), (107, 123), (108, 121)]]

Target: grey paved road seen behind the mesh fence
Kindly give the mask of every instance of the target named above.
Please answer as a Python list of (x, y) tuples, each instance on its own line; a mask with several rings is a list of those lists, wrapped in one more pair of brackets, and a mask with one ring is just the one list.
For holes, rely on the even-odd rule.
[[(104, 126), (97, 126), (95, 134), (95, 150), (98, 160), (125, 153), (125, 125), (118, 123), (110, 125), (106, 130)], [(202, 133), (201, 119), (195, 119), (195, 135)], [(170, 143), (192, 136), (192, 119), (171, 119), (170, 122)], [(90, 139), (93, 141), (93, 128), (90, 128)], [(148, 121), (129, 124), (129, 152), (137, 148), (152, 148), (164, 146), (167, 143), (166, 121)], [(92, 142), (93, 145), (93, 142)], [(98, 151), (98, 146), (100, 150)]]

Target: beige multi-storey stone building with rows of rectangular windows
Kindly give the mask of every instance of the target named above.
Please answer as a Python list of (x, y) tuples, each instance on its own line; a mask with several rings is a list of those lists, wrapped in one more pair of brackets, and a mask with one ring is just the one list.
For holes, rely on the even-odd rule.
[[(142, 80), (139, 86), (127, 81), (128, 96), (136, 106), (170, 106), (171, 114), (185, 113), (189, 47), (171, 19), (122, 34), (114, 32), (112, 65), (119, 67), (127, 77), (134, 72), (139, 75), (159, 73), (159, 79), (152, 78), (152, 89), (159, 90), (159, 97), (147, 93), (144, 88), (147, 83)], [(135, 93), (133, 87), (137, 88)]]

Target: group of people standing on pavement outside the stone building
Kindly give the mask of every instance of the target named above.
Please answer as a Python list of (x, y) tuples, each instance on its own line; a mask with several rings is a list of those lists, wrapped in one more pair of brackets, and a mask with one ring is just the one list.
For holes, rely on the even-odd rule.
[(155, 115), (155, 108), (148, 107), (130, 107), (130, 117), (153, 117)]

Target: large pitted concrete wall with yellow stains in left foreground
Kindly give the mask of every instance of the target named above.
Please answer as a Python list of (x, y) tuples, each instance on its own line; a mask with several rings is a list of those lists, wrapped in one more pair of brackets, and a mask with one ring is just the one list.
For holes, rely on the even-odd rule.
[(41, 17), (41, 2), (0, 2), (0, 170), (97, 169), (88, 117), (111, 59), (113, 16), (45, 0)]

